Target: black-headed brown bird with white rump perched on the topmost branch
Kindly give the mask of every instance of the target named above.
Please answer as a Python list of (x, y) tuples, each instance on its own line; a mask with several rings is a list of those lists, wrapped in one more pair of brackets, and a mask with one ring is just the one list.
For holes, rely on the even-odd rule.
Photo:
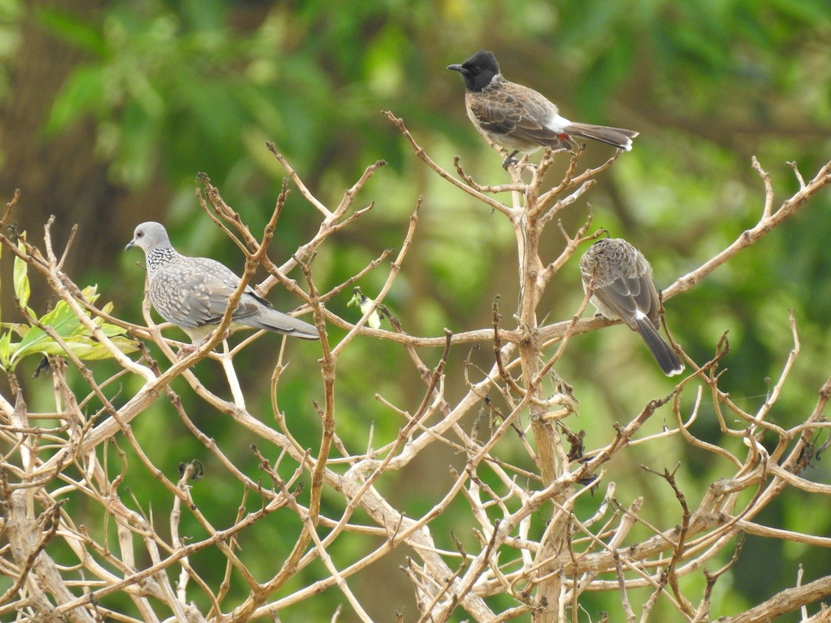
[(461, 65), (447, 68), (465, 78), (465, 107), (479, 134), (512, 150), (504, 162), (506, 167), (516, 162), (514, 156), (519, 152), (530, 154), (540, 147), (573, 151), (577, 145), (574, 137), (629, 151), (638, 135), (634, 130), (569, 121), (534, 89), (505, 80), (492, 52), (479, 50)]

